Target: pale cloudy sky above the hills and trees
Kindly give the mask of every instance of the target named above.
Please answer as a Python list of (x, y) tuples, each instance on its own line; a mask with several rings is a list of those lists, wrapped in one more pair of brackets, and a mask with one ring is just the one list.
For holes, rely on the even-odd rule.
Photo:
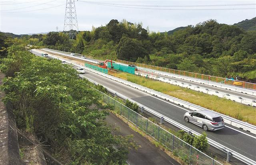
[[(234, 24), (256, 17), (256, 0), (75, 0), (75, 6), (81, 31), (105, 26), (112, 19), (142, 22), (143, 28), (165, 32), (209, 19)], [(0, 31), (62, 31), (65, 9), (66, 0), (0, 0)]]

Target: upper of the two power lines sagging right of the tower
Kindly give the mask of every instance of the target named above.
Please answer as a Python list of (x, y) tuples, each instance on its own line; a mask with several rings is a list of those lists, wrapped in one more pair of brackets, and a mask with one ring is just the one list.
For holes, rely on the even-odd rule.
[(102, 2), (90, 2), (90, 1), (82, 1), (89, 3), (97, 3), (97, 4), (107, 4), (107, 5), (116, 5), (116, 6), (139, 6), (139, 7), (218, 7), (218, 6), (251, 6), (256, 4), (216, 4), (216, 5), (134, 5), (134, 4), (110, 4), (110, 3), (102, 3)]

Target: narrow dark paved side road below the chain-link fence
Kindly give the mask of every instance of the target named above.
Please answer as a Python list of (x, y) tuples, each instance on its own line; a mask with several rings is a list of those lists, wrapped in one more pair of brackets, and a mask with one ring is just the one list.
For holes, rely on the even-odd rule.
[(134, 135), (134, 141), (140, 147), (133, 149), (128, 154), (127, 163), (130, 165), (180, 165), (177, 161), (168, 156), (164, 151), (158, 149), (148, 139), (133, 131), (128, 124), (116, 117), (113, 113), (109, 113), (106, 117), (108, 125), (118, 127), (119, 131), (115, 134)]

